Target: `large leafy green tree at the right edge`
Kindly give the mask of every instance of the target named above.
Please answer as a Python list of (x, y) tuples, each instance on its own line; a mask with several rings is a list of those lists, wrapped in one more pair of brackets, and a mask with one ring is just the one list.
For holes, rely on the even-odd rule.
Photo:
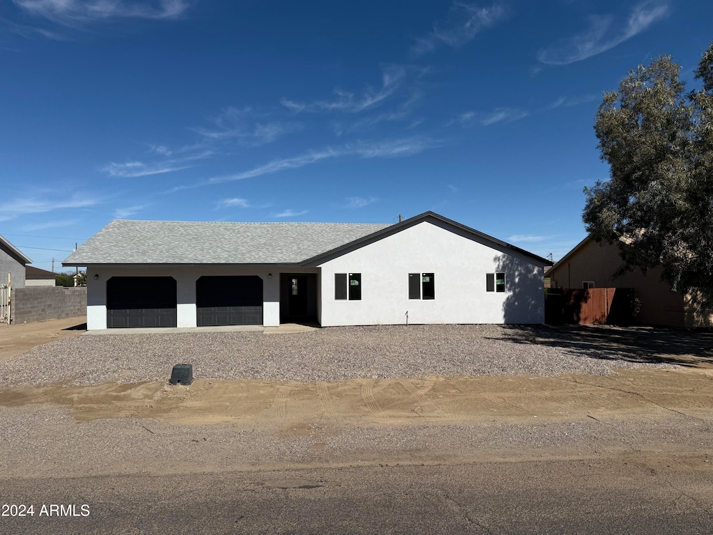
[(612, 275), (662, 266), (674, 290), (713, 304), (713, 44), (685, 93), (669, 56), (639, 66), (605, 93), (595, 132), (610, 180), (585, 188), (583, 220), (617, 244)]

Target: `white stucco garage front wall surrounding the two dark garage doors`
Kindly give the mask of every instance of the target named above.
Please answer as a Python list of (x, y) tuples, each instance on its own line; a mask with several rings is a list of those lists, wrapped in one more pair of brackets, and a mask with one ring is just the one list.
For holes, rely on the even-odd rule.
[[(87, 267), (87, 329), (106, 329), (106, 281), (111, 277), (173, 277), (178, 293), (178, 327), (196, 326), (195, 282), (204, 275), (257, 275), (262, 278), (262, 322), (279, 326), (280, 272), (311, 272), (279, 265), (89, 265)], [(270, 278), (272, 274), (272, 278)], [(95, 280), (94, 275), (98, 275)]]

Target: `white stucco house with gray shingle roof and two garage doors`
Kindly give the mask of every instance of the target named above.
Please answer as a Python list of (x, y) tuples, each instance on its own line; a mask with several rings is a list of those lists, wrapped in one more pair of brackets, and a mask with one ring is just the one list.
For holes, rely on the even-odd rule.
[(426, 212), (393, 225), (114, 220), (87, 267), (87, 326), (543, 323), (548, 260)]

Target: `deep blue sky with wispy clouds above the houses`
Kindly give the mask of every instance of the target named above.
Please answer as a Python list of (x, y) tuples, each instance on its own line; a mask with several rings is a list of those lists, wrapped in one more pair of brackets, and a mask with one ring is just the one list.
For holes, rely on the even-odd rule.
[(555, 260), (604, 91), (713, 2), (0, 0), (0, 234), (49, 269), (115, 218), (390, 223)]

